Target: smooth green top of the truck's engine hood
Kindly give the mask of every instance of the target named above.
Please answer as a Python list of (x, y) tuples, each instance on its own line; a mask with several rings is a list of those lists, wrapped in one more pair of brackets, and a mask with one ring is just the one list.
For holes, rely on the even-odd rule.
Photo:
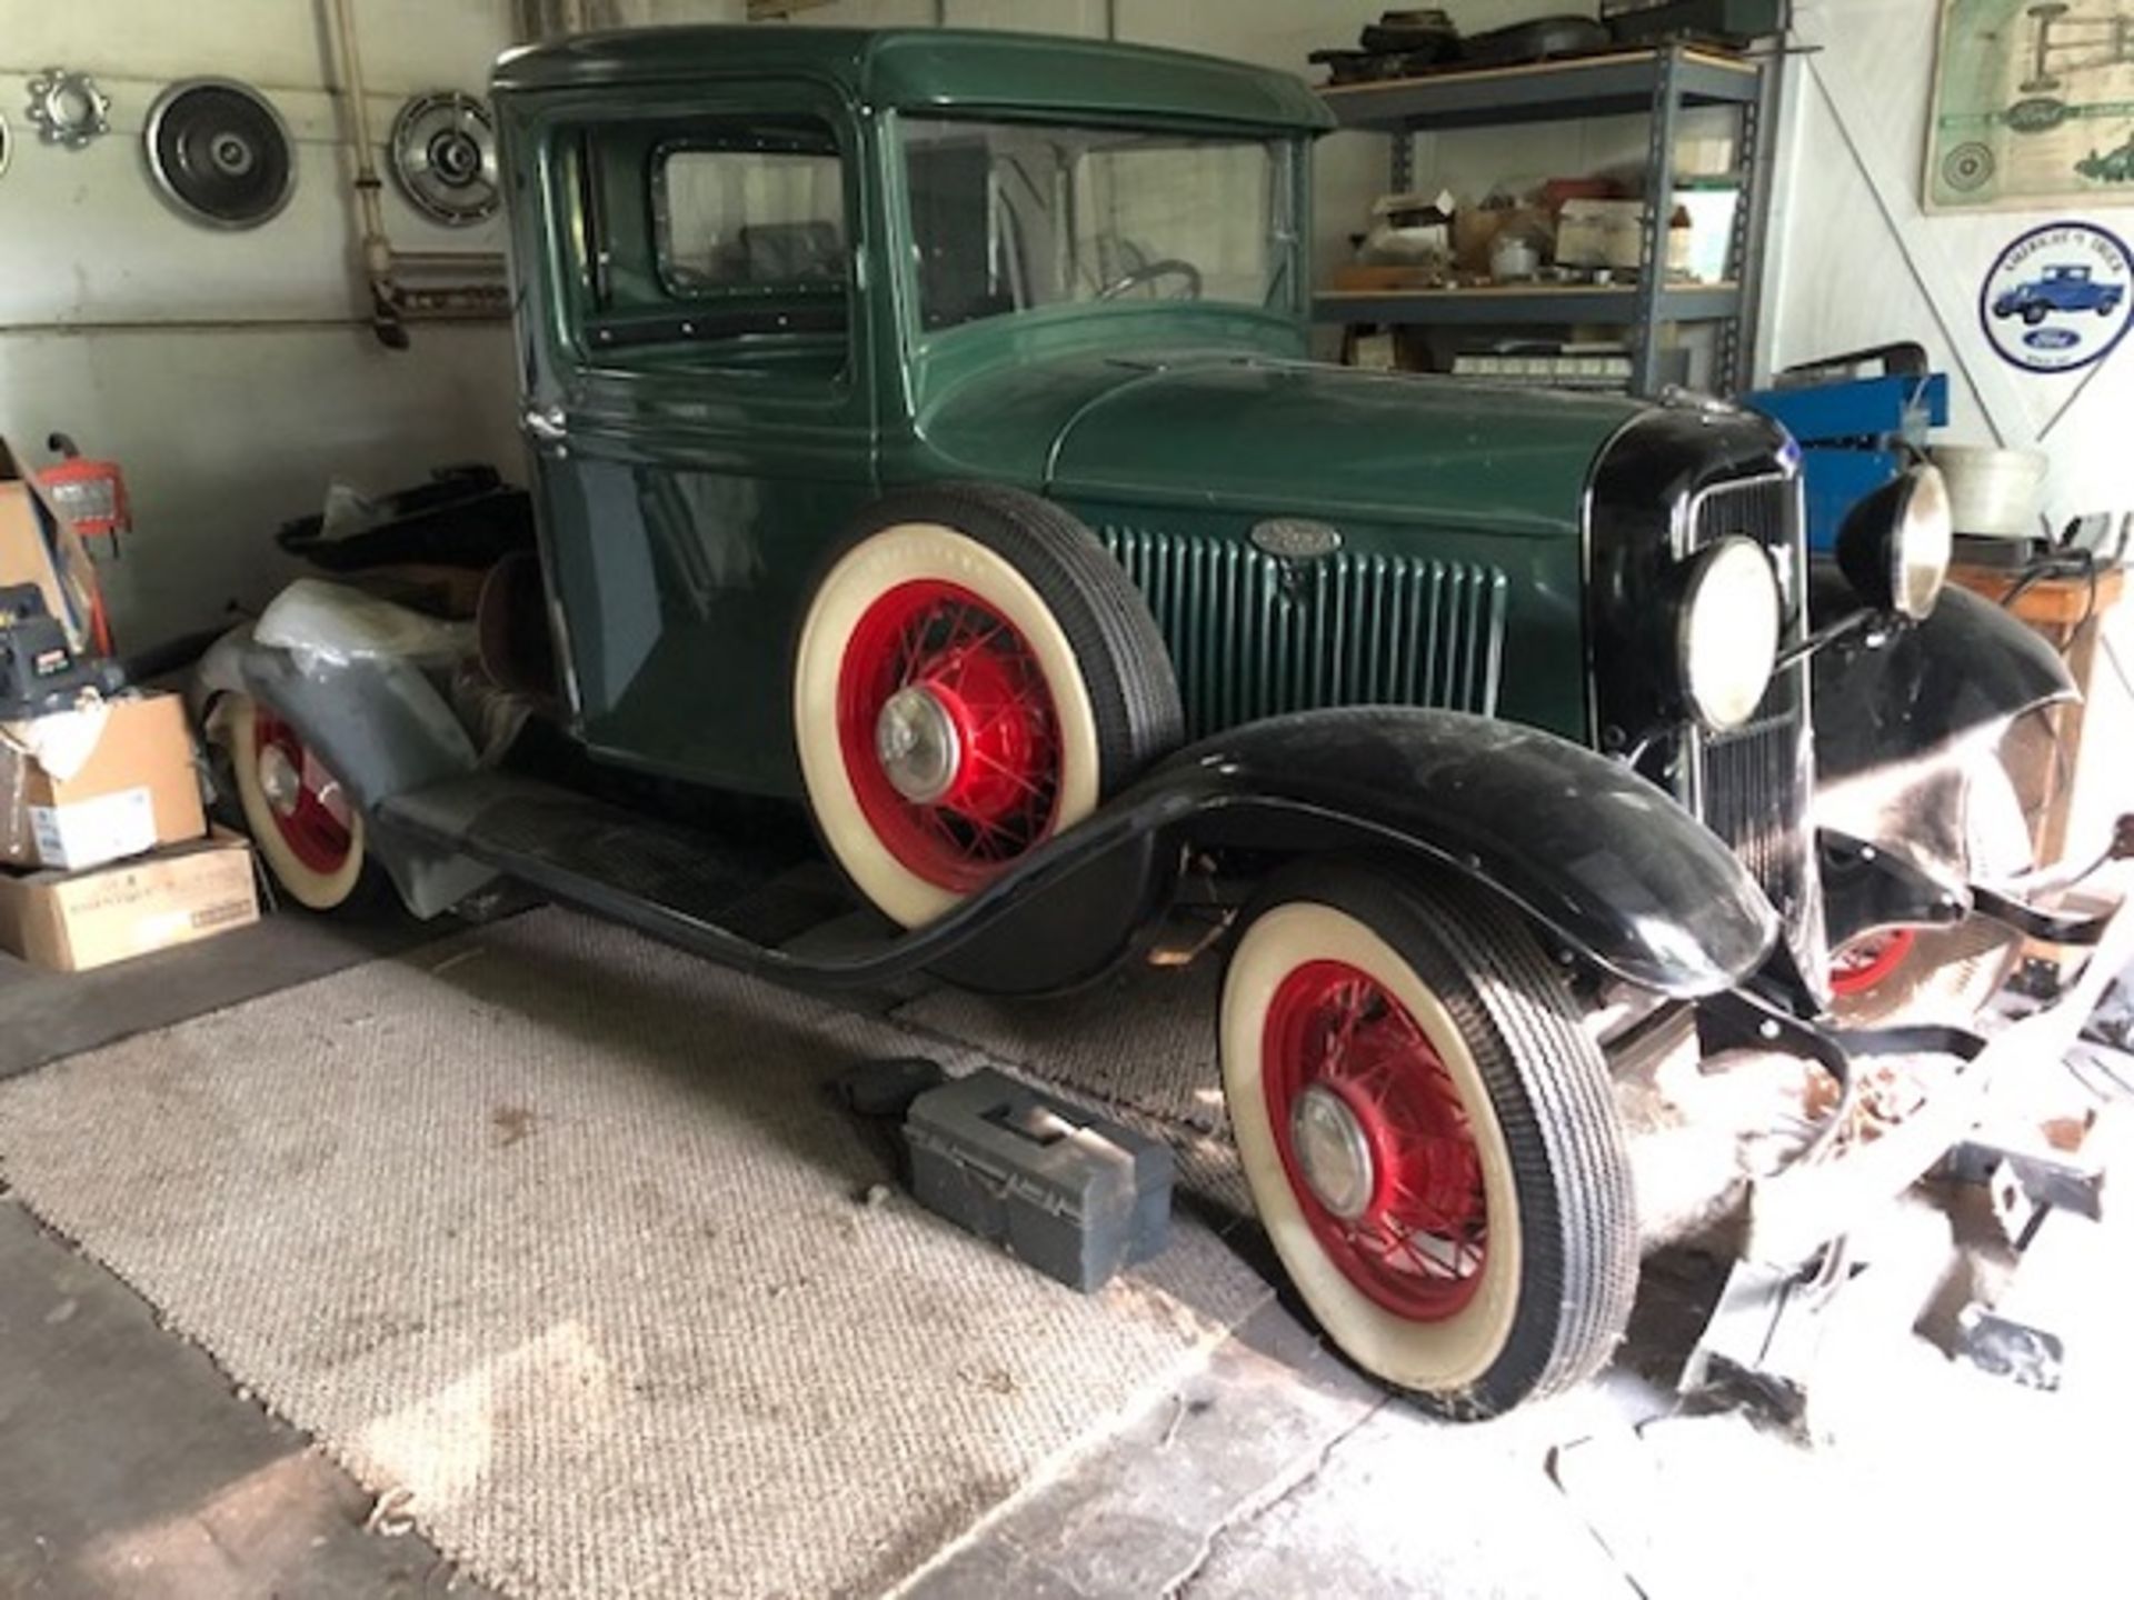
[(1566, 535), (1637, 412), (1293, 361), (1073, 354), (969, 378), (922, 431), (1063, 499)]

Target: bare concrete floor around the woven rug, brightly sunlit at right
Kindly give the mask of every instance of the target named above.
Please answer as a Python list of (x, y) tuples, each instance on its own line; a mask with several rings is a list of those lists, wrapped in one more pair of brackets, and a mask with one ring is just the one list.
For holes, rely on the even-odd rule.
[[(425, 937), (391, 915), (344, 926), (294, 913), (94, 979), (0, 971), (0, 1073)], [(1931, 1246), (1914, 1263), (1929, 1286), (1940, 1274)], [(2125, 1265), (2125, 1252), (2115, 1248), (2111, 1261)], [(2081, 1257), (2068, 1276), (2111, 1276), (2096, 1263), (2096, 1252)], [(1048, 1481), (943, 1549), (905, 1594), (1692, 1594), (1694, 1583), (1665, 1581), (1671, 1562), (1662, 1553), (1639, 1545), (1650, 1525), (1624, 1523), (1626, 1515), (1650, 1523), (1652, 1506), (1626, 1513), (1607, 1489), (1667, 1459), (1658, 1444), (1641, 1444), (1662, 1438), (1656, 1423), (1690, 1421), (1677, 1414), (1669, 1385), (1716, 1289), (1707, 1263), (1660, 1263), (1647, 1274), (1630, 1342), (1600, 1385), (1483, 1429), (1445, 1429), (1387, 1399), (1329, 1357), (1287, 1308), (1270, 1306), (1174, 1395), (1120, 1419), (1116, 1434), (1088, 1440)], [(1976, 1408), (1991, 1429), (2014, 1406), (2006, 1431), (1989, 1431), (1978, 1449), (2023, 1459), (2042, 1459), (2036, 1451), (2066, 1459), (2061, 1453), (2093, 1442), (2098, 1419), (2111, 1414), (2104, 1395), (2115, 1389), (2034, 1395), (1978, 1374), (1950, 1389), (1948, 1363), (1912, 1335), (1912, 1321), (1899, 1308), (1874, 1338), (1859, 1340), (1854, 1404), (1865, 1393), (1874, 1410), (1872, 1395), (1904, 1395), (1921, 1419)], [(2091, 1344), (2102, 1355), (2123, 1348), (2104, 1333)], [(1886, 1434), (1912, 1421), (1893, 1412), (1876, 1425)], [(391, 1506), (373, 1506), (307, 1438), (164, 1331), (126, 1284), (4, 1199), (0, 1438), (6, 1596), (482, 1594), (399, 1527)], [(1581, 1461), (1566, 1455), (1566, 1440), (1598, 1449)], [(1921, 1483), (1940, 1483), (1931, 1461), (1897, 1459), (1918, 1468)], [(1566, 1461), (1600, 1468), (1573, 1472)], [(1754, 1431), (1735, 1468), (1739, 1481), (1711, 1493), (1754, 1508), (1765, 1485), (1793, 1472), (1820, 1495), (1825, 1470), (1816, 1463), (1799, 1446)], [(1837, 1472), (1833, 1457), (1831, 1481)], [(1771, 1515), (1780, 1515), (1778, 1504)], [(1784, 1517), (1795, 1515), (1816, 1517), (1816, 1500), (1788, 1495)], [(1889, 1495), (1874, 1515), (1925, 1530), (1944, 1508)], [(2081, 1534), (2055, 1538), (2074, 1559), (2072, 1581), (2057, 1591), (2106, 1591), (2083, 1583), (2091, 1568)], [(1780, 1570), (1790, 1581), (1814, 1577), (1788, 1566), (1765, 1577)]]

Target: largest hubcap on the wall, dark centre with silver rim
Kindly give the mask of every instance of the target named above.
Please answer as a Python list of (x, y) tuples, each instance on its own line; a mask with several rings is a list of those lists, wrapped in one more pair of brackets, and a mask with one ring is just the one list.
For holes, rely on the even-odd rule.
[(282, 113), (243, 83), (173, 83), (147, 113), (147, 171), (177, 211), (213, 228), (256, 228), (297, 190)]

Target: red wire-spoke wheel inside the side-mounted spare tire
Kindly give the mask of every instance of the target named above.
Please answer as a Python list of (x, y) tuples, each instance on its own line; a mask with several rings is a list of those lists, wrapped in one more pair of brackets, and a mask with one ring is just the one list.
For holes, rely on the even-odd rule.
[(973, 591), (920, 578), (851, 629), (837, 734), (854, 796), (913, 875), (971, 894), (1058, 821), (1058, 713), (1044, 666)]

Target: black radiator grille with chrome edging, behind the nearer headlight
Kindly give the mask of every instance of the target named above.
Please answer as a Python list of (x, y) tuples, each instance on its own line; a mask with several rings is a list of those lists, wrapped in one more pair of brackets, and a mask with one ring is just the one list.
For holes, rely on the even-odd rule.
[[(1797, 612), (1788, 619), (1786, 642), (1799, 638), (1805, 604), (1799, 493), (1790, 478), (1718, 489), (1699, 503), (1692, 527), (1697, 548), (1739, 533), (1771, 553), (1786, 582), (1786, 604)], [(1810, 956), (1820, 945), (1822, 894), (1807, 834), (1814, 787), (1807, 666), (1780, 672), (1748, 725), (1731, 734), (1701, 734), (1692, 772), (1705, 826), (1733, 847), (1786, 919), (1795, 949)]]

